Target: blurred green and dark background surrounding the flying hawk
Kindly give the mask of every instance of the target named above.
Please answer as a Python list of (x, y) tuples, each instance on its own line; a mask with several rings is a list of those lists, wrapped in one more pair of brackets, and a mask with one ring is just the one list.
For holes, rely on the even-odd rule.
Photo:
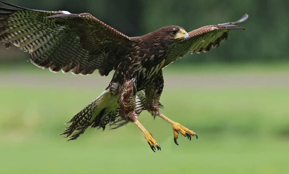
[[(0, 45), (0, 173), (289, 173), (289, 10), (285, 0), (6, 0), (25, 8), (88, 12), (126, 34), (167, 25), (187, 32), (249, 14), (208, 53), (166, 67), (162, 111), (199, 136), (179, 135), (144, 111), (140, 122), (77, 140), (62, 123), (103, 92), (109, 77), (51, 73), (28, 53)], [(3, 7), (3, 5), (1, 5)]]

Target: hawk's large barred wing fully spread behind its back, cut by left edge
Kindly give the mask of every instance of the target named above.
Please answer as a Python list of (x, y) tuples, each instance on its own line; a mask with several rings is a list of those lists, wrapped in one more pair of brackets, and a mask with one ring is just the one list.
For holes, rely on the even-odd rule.
[(116, 68), (130, 53), (134, 42), (91, 14), (1, 8), (0, 41), (29, 51), (33, 64), (50, 71), (100, 75)]

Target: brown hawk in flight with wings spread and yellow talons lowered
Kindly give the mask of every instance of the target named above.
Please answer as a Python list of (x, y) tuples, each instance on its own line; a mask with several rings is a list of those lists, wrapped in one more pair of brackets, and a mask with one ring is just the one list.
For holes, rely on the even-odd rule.
[(0, 41), (5, 42), (6, 48), (15, 45), (28, 51), (29, 60), (36, 66), (53, 72), (72, 70), (81, 75), (98, 69), (101, 76), (107, 76), (114, 70), (108, 87), (68, 121), (71, 125), (63, 136), (74, 140), (88, 127), (104, 130), (106, 125), (117, 128), (133, 122), (153, 151), (161, 148), (138, 121), (143, 110), (173, 126), (177, 145), (179, 133), (190, 140), (191, 136), (197, 137), (160, 112), (162, 69), (188, 52), (207, 52), (218, 47), (230, 29), (243, 29), (236, 24), (248, 18), (245, 14), (236, 22), (208, 25), (188, 33), (172, 25), (144, 36), (128, 37), (89, 13), (31, 10), (1, 3), (16, 9), (0, 8)]

